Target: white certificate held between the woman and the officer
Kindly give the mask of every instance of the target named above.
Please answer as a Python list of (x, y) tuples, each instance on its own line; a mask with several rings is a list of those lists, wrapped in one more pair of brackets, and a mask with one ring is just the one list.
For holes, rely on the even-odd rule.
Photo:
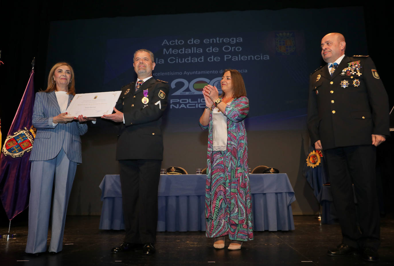
[(122, 91), (106, 91), (96, 93), (79, 93), (74, 96), (69, 107), (67, 116), (84, 115), (86, 117), (100, 117), (113, 112)]

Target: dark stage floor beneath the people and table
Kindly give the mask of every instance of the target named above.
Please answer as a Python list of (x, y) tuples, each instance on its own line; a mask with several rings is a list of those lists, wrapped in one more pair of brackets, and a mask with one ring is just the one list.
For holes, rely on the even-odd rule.
[[(240, 251), (216, 250), (204, 232), (164, 232), (157, 234), (156, 254), (138, 252), (112, 254), (124, 231), (99, 230), (99, 216), (67, 216), (63, 251), (30, 257), (24, 253), (27, 222), (11, 227), (22, 234), (0, 238), (0, 265), (90, 266), (90, 265), (394, 265), (394, 219), (382, 218), (380, 262), (370, 264), (358, 257), (330, 257), (327, 249), (340, 244), (339, 225), (320, 225), (314, 216), (294, 216), (294, 231), (255, 232), (255, 240)], [(8, 226), (0, 227), (6, 233)], [(48, 241), (49, 246), (49, 241)]]

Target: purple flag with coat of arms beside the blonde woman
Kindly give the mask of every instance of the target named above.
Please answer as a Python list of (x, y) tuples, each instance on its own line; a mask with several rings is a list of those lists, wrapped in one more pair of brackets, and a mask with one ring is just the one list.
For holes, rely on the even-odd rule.
[(34, 70), (30, 73), (29, 82), (1, 150), (0, 199), (9, 220), (29, 206), (29, 156), (35, 137), (35, 129), (32, 126), (33, 81)]

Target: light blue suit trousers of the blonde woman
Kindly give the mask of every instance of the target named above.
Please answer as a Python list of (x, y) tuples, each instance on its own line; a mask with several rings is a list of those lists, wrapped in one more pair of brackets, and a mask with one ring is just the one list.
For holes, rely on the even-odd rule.
[(76, 166), (76, 162), (72, 162), (67, 158), (63, 148), (51, 160), (32, 161), (26, 253), (46, 251), (53, 184), (55, 184), (55, 188), (52, 208), (52, 232), (48, 251), (59, 252), (62, 250), (67, 205)]

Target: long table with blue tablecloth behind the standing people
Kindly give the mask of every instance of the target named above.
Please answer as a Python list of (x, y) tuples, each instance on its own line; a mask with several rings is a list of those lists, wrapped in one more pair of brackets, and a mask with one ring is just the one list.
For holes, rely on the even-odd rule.
[[(296, 200), (286, 174), (251, 174), (255, 231), (294, 230), (291, 203)], [(206, 175), (160, 175), (157, 231), (205, 231)], [(119, 175), (105, 175), (100, 229), (125, 229)]]

